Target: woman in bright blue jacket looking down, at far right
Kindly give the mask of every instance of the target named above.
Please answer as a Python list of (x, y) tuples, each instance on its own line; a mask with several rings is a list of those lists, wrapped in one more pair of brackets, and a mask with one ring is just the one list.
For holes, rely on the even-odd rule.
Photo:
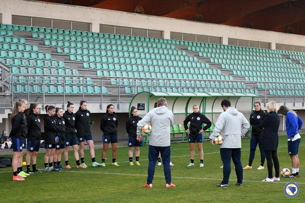
[(300, 161), (298, 157), (298, 150), (300, 145), (301, 136), (299, 134), (303, 121), (294, 110), (286, 106), (281, 106), (278, 110), (279, 113), (286, 115), (286, 131), (288, 136), (288, 154), (292, 163), (292, 174), (289, 178), (299, 177)]

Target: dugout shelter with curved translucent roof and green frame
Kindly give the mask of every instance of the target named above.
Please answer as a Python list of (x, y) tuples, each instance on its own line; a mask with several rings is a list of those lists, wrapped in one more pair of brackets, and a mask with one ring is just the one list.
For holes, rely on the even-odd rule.
[[(221, 101), (228, 99), (231, 106), (249, 118), (253, 111), (253, 101), (258, 95), (253, 93), (169, 93), (169, 92), (140, 92), (136, 94), (129, 109), (134, 106), (138, 109), (138, 115), (144, 117), (150, 110), (154, 109), (154, 104), (159, 98), (167, 100), (167, 108), (174, 113), (176, 123), (170, 128), (171, 141), (187, 141), (188, 135), (183, 126), (183, 121), (188, 114), (193, 112), (193, 105), (199, 106), (199, 111), (212, 122), (211, 128), (204, 132), (204, 139), (208, 138), (213, 131), (214, 124), (219, 115), (223, 112)], [(204, 127), (204, 126), (203, 126)], [(148, 143), (149, 134), (142, 134), (144, 144)], [(248, 133), (250, 136), (251, 133)]]

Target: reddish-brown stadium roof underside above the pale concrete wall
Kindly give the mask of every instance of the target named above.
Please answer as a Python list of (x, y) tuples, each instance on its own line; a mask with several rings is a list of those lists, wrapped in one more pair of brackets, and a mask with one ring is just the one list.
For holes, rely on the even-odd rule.
[(305, 35), (305, 0), (41, 0)]

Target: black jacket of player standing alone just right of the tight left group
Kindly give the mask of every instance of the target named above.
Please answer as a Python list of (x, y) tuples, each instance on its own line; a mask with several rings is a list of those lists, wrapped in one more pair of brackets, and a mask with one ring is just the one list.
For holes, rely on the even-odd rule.
[(114, 136), (117, 135), (117, 126), (119, 122), (115, 112), (109, 114), (108, 112), (102, 117), (100, 128), (104, 135)]

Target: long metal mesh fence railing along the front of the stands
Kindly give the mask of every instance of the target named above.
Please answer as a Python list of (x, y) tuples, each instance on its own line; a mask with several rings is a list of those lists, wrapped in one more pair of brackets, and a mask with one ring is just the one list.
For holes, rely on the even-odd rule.
[(304, 105), (305, 101), (303, 83), (29, 74), (8, 75), (5, 81), (0, 82), (0, 87), (4, 82), (9, 84), (10, 91), (0, 94), (0, 108), (11, 108), (19, 99), (63, 104), (80, 100), (101, 104), (130, 102), (135, 94), (142, 91), (253, 93), (262, 102), (274, 100), (294, 104), (302, 102)]

